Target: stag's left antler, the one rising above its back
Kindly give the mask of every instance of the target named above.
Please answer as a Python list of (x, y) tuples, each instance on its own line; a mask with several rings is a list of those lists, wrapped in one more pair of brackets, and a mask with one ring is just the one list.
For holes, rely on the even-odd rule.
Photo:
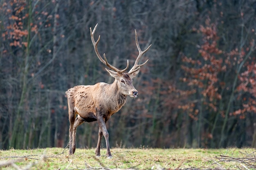
[(95, 42), (95, 40), (94, 40), (94, 33), (95, 33), (96, 29), (97, 29), (97, 25), (98, 25), (98, 24), (95, 25), (93, 31), (92, 31), (92, 28), (90, 27), (92, 44), (93, 44), (93, 46), (94, 46), (94, 50), (95, 50), (95, 53), (96, 53), (97, 57), (99, 58), (99, 60), (100, 60), (102, 63), (104, 63), (106, 66), (108, 66), (109, 68), (113, 69), (113, 70), (116, 71), (117, 73), (121, 74), (121, 73), (125, 72), (125, 71), (128, 69), (128, 67), (129, 67), (129, 61), (128, 61), (128, 60), (127, 60), (127, 66), (126, 66), (126, 68), (125, 68), (125, 69), (122, 69), (122, 70), (119, 70), (119, 69), (117, 69), (116, 67), (114, 67), (114, 66), (112, 66), (112, 65), (110, 65), (110, 64), (108, 63), (108, 60), (107, 60), (107, 58), (106, 58), (105, 53), (103, 54), (105, 60), (103, 60), (103, 58), (102, 58), (101, 55), (99, 54), (99, 51), (98, 51), (98, 47), (97, 47), (97, 46), (98, 46), (99, 40), (101, 39), (101, 36), (99, 36), (99, 38), (98, 38), (98, 40), (97, 40), (96, 42)]

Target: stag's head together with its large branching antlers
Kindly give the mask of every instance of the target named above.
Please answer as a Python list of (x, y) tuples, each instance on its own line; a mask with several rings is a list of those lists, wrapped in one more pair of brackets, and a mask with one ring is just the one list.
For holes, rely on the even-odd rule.
[(99, 60), (102, 63), (104, 63), (110, 69), (114, 70), (114, 71), (112, 71), (112, 70), (106, 68), (106, 70), (110, 74), (110, 76), (115, 78), (115, 82), (114, 83), (117, 84), (117, 87), (119, 88), (119, 92), (121, 92), (121, 94), (128, 95), (128, 96), (131, 96), (131, 97), (137, 97), (138, 91), (132, 85), (132, 78), (134, 78), (139, 73), (140, 67), (145, 65), (148, 62), (148, 60), (146, 60), (146, 62), (144, 62), (143, 64), (139, 64), (138, 65), (141, 56), (144, 53), (146, 53), (146, 51), (148, 51), (148, 49), (150, 48), (151, 45), (149, 45), (148, 48), (146, 48), (144, 51), (141, 51), (141, 49), (139, 47), (138, 38), (137, 38), (137, 32), (135, 30), (135, 40), (136, 40), (137, 48), (139, 50), (139, 55), (138, 55), (137, 59), (135, 60), (135, 63), (133, 65), (133, 67), (130, 69), (130, 71), (128, 73), (124, 73), (128, 69), (128, 67), (129, 67), (129, 61), (128, 60), (127, 60), (126, 68), (122, 69), (122, 70), (119, 70), (116, 67), (114, 67), (114, 66), (112, 66), (112, 65), (110, 65), (108, 63), (108, 60), (107, 60), (105, 54), (103, 54), (104, 60), (101, 57), (101, 55), (99, 54), (97, 45), (99, 43), (99, 40), (100, 40), (101, 36), (99, 36), (99, 38), (98, 38), (98, 40), (96, 42), (94, 40), (94, 33), (95, 33), (96, 29), (97, 29), (97, 25), (95, 25), (93, 31), (92, 31), (92, 28), (90, 28), (92, 44), (94, 46), (94, 50), (95, 50), (95, 52), (97, 54), (97, 57), (99, 58)]

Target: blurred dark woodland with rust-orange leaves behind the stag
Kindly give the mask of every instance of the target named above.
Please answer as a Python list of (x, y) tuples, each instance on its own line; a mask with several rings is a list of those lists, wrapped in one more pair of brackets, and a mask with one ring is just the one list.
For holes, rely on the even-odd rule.
[[(256, 0), (0, 0), (0, 149), (65, 147), (65, 91), (112, 83), (141, 49), (136, 99), (107, 123), (110, 147), (256, 147)], [(77, 131), (96, 147), (97, 122)], [(105, 145), (105, 140), (102, 140)]]

